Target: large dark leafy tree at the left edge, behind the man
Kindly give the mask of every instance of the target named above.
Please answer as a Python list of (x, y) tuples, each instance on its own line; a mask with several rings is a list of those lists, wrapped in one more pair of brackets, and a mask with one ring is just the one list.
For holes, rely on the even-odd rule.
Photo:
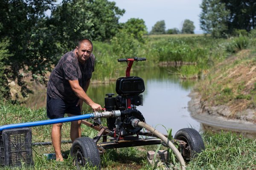
[[(32, 78), (46, 82), (45, 73), (54, 62), (56, 45), (52, 31), (46, 26), (45, 12), (54, 7), (55, 0), (0, 1), (0, 42), (9, 40), (6, 46), (12, 57), (2, 59), (5, 81), (17, 81), (21, 94), (31, 92), (23, 81), (26, 72)], [(8, 82), (1, 84), (8, 89)], [(6, 93), (8, 95), (9, 93)], [(9, 98), (10, 96), (6, 96)]]

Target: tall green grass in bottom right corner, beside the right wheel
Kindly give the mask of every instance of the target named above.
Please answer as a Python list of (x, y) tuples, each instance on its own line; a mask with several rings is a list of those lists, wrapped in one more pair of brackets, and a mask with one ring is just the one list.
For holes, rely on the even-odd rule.
[(205, 150), (189, 162), (188, 170), (254, 170), (256, 140), (235, 133), (204, 135)]

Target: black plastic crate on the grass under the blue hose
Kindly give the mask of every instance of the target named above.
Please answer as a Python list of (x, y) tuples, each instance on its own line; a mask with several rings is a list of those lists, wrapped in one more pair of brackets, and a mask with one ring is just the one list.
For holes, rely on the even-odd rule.
[(32, 165), (32, 132), (30, 128), (0, 132), (0, 165)]

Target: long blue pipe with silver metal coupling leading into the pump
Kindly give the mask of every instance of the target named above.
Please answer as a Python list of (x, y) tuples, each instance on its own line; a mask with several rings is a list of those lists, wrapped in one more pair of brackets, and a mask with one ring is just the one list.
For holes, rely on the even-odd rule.
[(8, 124), (8, 125), (0, 126), (0, 132), (6, 129), (43, 126), (48, 124), (58, 124), (58, 123), (64, 123), (69, 121), (79, 121), (79, 120), (89, 119), (89, 118), (93, 118), (93, 119), (113, 118), (113, 117), (120, 117), (120, 116), (121, 116), (120, 110), (93, 112), (93, 113), (88, 113), (86, 115), (71, 116), (67, 118), (56, 118), (56, 119), (49, 119), (44, 121), (32, 121), (32, 122), (19, 123), (19, 124)]

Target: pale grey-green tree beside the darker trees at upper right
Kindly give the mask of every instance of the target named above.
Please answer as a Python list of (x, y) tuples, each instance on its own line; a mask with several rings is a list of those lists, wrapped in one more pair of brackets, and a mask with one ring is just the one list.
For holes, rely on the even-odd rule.
[(224, 37), (227, 34), (227, 17), (230, 11), (221, 0), (203, 0), (200, 8), (201, 29), (213, 37)]

